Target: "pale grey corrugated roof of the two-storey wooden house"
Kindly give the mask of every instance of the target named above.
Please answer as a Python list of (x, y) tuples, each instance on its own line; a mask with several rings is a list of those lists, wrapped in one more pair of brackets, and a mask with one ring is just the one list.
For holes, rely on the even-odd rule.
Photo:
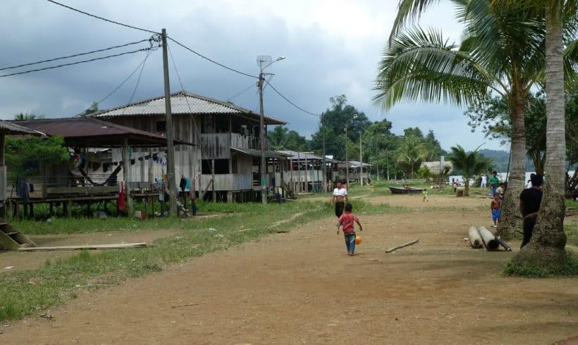
[[(109, 118), (112, 116), (136, 116), (136, 115), (164, 115), (164, 96), (145, 99), (130, 103), (127, 106), (119, 106), (106, 111), (91, 115), (97, 118)], [(260, 115), (249, 109), (235, 106), (233, 103), (199, 96), (190, 92), (176, 92), (171, 94), (171, 111), (174, 115), (202, 115), (202, 114), (239, 114), (247, 115), (259, 120)], [(265, 116), (267, 125), (285, 125), (286, 122)]]

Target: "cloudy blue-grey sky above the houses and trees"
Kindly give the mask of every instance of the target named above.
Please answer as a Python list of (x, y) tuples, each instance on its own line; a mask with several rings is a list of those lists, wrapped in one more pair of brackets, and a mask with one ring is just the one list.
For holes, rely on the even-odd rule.
[[(387, 118), (393, 130), (418, 126), (433, 130), (442, 146), (462, 144), (474, 149), (486, 140), (472, 133), (463, 109), (429, 103), (405, 103), (383, 113), (371, 103), (373, 80), (383, 44), (391, 30), (398, 0), (61, 0), (64, 4), (138, 27), (160, 31), (192, 49), (246, 73), (259, 73), (258, 55), (286, 56), (267, 69), (271, 84), (288, 99), (313, 113), (329, 106), (329, 97), (348, 96), (371, 120)], [(461, 27), (448, 4), (431, 8), (420, 23), (441, 29), (457, 41)], [(4, 0), (0, 28), (4, 35), (0, 68), (47, 58), (116, 46), (150, 34), (75, 13), (42, 0)], [(139, 45), (144, 47), (144, 44)], [(181, 49), (171, 52), (187, 91), (228, 100), (254, 85), (250, 77), (231, 73)], [(113, 52), (134, 50), (130, 46)], [(102, 54), (101, 54), (102, 55)], [(99, 56), (98, 54), (96, 56)], [(47, 118), (68, 117), (103, 99), (137, 68), (145, 53), (92, 63), (0, 78), (0, 118), (32, 112)], [(74, 61), (74, 59), (71, 59)], [(42, 65), (42, 67), (50, 64)], [(14, 70), (0, 71), (0, 74)], [(171, 92), (181, 89), (171, 65)], [(110, 108), (127, 103), (137, 75), (100, 104)], [(163, 94), (161, 50), (147, 59), (133, 101)], [(230, 99), (257, 110), (257, 88)], [(309, 137), (318, 118), (293, 108), (271, 89), (265, 111), (289, 122)], [(486, 141), (484, 148), (500, 149)]]

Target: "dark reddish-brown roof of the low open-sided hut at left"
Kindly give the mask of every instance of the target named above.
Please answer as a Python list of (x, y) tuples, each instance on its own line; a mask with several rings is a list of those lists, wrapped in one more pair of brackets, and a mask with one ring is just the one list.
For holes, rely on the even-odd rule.
[[(12, 121), (47, 135), (64, 137), (67, 146), (115, 147), (123, 146), (166, 146), (166, 138), (135, 128), (116, 125), (96, 118), (47, 118), (39, 120)], [(190, 144), (175, 140), (175, 144)]]

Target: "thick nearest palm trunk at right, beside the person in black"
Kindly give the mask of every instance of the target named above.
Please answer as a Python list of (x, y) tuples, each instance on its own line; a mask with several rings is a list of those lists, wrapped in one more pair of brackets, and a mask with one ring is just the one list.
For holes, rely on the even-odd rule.
[(546, 1), (546, 184), (534, 234), (515, 261), (559, 268), (564, 264), (564, 194), (566, 151), (562, 0)]

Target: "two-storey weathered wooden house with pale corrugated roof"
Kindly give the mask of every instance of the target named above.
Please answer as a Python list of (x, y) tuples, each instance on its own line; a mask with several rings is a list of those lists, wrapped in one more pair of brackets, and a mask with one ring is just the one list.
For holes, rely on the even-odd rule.
[[(213, 201), (250, 201), (261, 190), (259, 178), (259, 118), (233, 103), (219, 101), (189, 92), (171, 94), (175, 138), (195, 146), (176, 145), (176, 178), (192, 181), (197, 197)], [(112, 123), (164, 135), (166, 130), (164, 96), (137, 101), (92, 115)], [(285, 125), (282, 120), (265, 117), (265, 125)], [(266, 145), (267, 146), (267, 145)], [(134, 149), (133, 157), (157, 154), (161, 163), (140, 164), (131, 170), (131, 180), (151, 182), (166, 173), (162, 165), (164, 150), (159, 152)], [(121, 151), (113, 150), (113, 160)], [(273, 151), (266, 158), (280, 159)], [(266, 181), (271, 187), (271, 179)], [(259, 191), (259, 192), (257, 192)]]

